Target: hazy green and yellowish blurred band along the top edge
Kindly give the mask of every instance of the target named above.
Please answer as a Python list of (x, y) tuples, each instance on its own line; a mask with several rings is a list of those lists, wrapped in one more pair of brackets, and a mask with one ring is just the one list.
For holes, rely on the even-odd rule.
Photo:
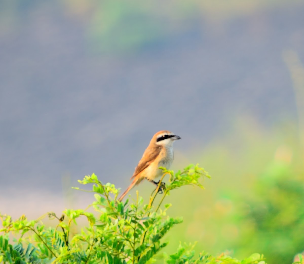
[[(139, 50), (152, 43), (165, 43), (184, 33), (193, 22), (216, 22), (217, 26), (231, 18), (257, 10), (295, 5), (301, 0), (227, 0), (208, 1), (2, 1), (0, 2), (0, 35), (30, 17), (37, 6), (58, 9), (65, 15), (84, 22), (90, 51), (124, 53)], [(63, 7), (63, 8), (62, 8)]]

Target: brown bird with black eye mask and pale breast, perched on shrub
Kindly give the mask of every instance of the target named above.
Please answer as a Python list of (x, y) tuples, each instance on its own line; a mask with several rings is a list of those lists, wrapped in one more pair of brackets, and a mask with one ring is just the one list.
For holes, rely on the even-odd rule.
[(132, 180), (130, 186), (118, 198), (118, 201), (122, 201), (126, 194), (143, 179), (147, 179), (158, 186), (159, 182), (154, 180), (163, 174), (159, 167), (169, 169), (174, 159), (173, 142), (178, 139), (181, 139), (181, 137), (168, 130), (161, 130), (154, 134), (135, 168), (130, 179)]

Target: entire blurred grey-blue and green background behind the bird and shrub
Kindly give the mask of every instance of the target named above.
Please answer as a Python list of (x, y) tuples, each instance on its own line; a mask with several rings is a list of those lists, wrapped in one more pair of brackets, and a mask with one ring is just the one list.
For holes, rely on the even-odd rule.
[[(0, 211), (85, 208), (126, 188), (155, 132), (181, 136), (167, 237), (291, 263), (304, 250), (304, 1), (0, 0)], [(152, 186), (137, 188), (148, 199)], [(134, 197), (135, 190), (130, 192)]]

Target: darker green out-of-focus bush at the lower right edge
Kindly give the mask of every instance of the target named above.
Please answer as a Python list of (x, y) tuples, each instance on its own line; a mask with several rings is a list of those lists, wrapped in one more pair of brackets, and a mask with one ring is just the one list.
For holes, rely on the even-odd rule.
[[(298, 172), (299, 173), (299, 172)], [(230, 221), (239, 236), (230, 246), (240, 255), (265, 252), (269, 263), (291, 263), (304, 249), (303, 173), (275, 160), (257, 177), (246, 194), (233, 194)]]

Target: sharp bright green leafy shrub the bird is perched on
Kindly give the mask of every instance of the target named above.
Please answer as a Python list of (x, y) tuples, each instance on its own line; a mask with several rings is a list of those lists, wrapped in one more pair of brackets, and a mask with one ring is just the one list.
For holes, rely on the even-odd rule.
[[(3, 263), (259, 263), (264, 257), (253, 254), (239, 261), (221, 254), (212, 256), (204, 252), (195, 254), (194, 245), (180, 245), (175, 254), (167, 255), (160, 251), (168, 244), (164, 236), (175, 225), (182, 222), (181, 218), (170, 218), (167, 210), (171, 204), (164, 204), (164, 198), (171, 190), (185, 185), (200, 188), (199, 178), (209, 177), (208, 173), (198, 165), (190, 165), (183, 171), (169, 174), (169, 184), (155, 204), (159, 187), (151, 195), (149, 203), (143, 204), (143, 198), (136, 192), (136, 199), (129, 204), (117, 201), (119, 190), (113, 184), (102, 184), (95, 174), (79, 180), (81, 184), (93, 184), (92, 192), (95, 200), (87, 210), (67, 209), (61, 217), (48, 213), (57, 221), (55, 228), (45, 227), (41, 219), (29, 221), (22, 216), (12, 221), (10, 216), (1, 215), (4, 234), (0, 236), (0, 262)], [(79, 189), (79, 188), (75, 188)], [(72, 223), (76, 224), (79, 217), (85, 217), (88, 225), (81, 231), (71, 232)], [(19, 233), (21, 238), (15, 244), (9, 243), (10, 233)], [(25, 236), (27, 234), (27, 236)]]

